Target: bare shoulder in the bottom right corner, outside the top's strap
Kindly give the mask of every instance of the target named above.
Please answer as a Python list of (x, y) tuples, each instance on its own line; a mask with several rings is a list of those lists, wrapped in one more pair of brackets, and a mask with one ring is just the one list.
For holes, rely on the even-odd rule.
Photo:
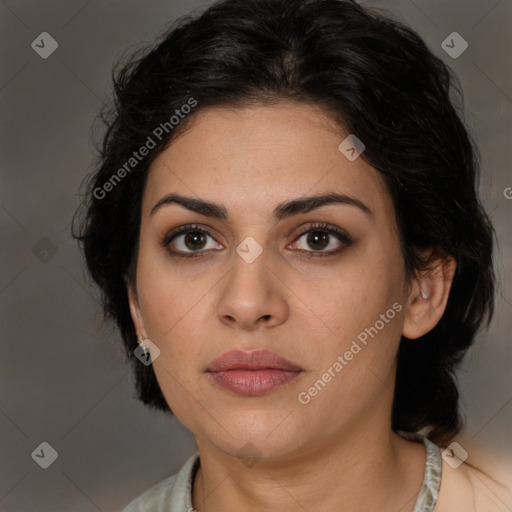
[(441, 488), (435, 512), (506, 512), (512, 489), (468, 463), (457, 468), (443, 460)]

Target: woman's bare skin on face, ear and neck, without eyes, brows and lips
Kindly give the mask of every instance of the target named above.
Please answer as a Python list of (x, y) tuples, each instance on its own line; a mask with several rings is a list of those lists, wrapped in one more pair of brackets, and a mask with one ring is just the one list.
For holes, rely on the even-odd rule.
[[(414, 507), (425, 449), (391, 431), (396, 353), (401, 335), (414, 343), (441, 318), (455, 263), (436, 258), (429, 272), (406, 281), (392, 200), (374, 168), (340, 152), (347, 135), (309, 105), (209, 108), (151, 167), (130, 308), (137, 333), (161, 351), (153, 365), (169, 406), (196, 439), (198, 512)], [(272, 217), (284, 201), (333, 191), (357, 198), (372, 214), (331, 204)], [(169, 193), (221, 204), (228, 219), (177, 204), (151, 214)], [(345, 230), (353, 243), (315, 257), (343, 247), (335, 235), (320, 251), (307, 234), (298, 238), (318, 222)], [(194, 246), (184, 235), (167, 247), (161, 240), (188, 223), (212, 238), (199, 245), (199, 257), (172, 257), (169, 249), (190, 254)], [(236, 252), (249, 236), (262, 249), (252, 263)], [(401, 311), (301, 404), (298, 394), (394, 303)], [(205, 373), (226, 351), (256, 348), (302, 373), (259, 397), (233, 394)], [(244, 455), (251, 450), (249, 465)]]

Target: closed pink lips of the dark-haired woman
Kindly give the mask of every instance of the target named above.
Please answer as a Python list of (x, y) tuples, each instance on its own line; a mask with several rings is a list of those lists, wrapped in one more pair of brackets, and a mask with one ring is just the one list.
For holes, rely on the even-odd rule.
[(259, 396), (294, 380), (302, 368), (268, 350), (233, 350), (215, 359), (206, 371), (238, 395)]

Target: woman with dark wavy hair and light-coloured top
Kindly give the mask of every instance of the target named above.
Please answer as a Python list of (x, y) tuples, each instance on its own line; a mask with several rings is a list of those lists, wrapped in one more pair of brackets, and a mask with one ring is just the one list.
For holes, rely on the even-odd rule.
[(494, 272), (451, 82), (349, 0), (218, 2), (117, 73), (77, 236), (198, 447), (126, 512), (502, 510), (452, 444)]

